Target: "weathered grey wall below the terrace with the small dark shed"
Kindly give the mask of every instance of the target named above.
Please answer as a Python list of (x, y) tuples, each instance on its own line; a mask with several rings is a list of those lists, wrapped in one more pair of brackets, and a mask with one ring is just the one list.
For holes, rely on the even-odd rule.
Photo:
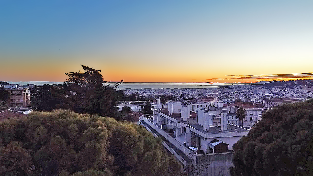
[(209, 161), (210, 165), (203, 170), (202, 176), (228, 176), (230, 175), (229, 167), (233, 166), (232, 159), (233, 152), (197, 155), (196, 168)]

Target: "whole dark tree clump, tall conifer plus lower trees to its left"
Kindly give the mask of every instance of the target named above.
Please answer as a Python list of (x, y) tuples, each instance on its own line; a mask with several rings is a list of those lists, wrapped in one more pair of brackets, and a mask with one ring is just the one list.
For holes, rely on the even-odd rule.
[(101, 70), (81, 66), (84, 72), (65, 73), (69, 78), (63, 85), (36, 86), (32, 91), (32, 106), (37, 106), (40, 111), (70, 109), (78, 113), (114, 117), (116, 102), (123, 95), (123, 91), (116, 91), (115, 88), (123, 80), (114, 85), (104, 85), (108, 81), (104, 81)]

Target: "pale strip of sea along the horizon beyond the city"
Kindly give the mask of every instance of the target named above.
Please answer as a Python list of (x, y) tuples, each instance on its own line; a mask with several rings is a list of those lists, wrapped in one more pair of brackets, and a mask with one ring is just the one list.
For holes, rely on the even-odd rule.
[[(9, 84), (19, 84), (19, 85), (27, 85), (27, 84), (35, 84), (35, 85), (44, 85), (44, 84), (63, 84), (63, 82), (48, 82), (48, 81), (33, 81), (33, 82), (10, 82)], [(113, 85), (117, 82), (109, 82), (105, 85)], [(169, 83), (169, 82), (123, 82), (116, 89), (186, 89), (186, 88), (219, 88), (219, 87), (229, 87), (231, 85), (256, 85), (256, 83)]]

